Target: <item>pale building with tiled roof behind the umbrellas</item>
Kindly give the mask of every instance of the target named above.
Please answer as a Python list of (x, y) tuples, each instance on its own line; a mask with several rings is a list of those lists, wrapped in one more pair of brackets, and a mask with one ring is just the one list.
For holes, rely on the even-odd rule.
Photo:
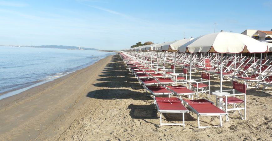
[(252, 37), (256, 40), (263, 40), (263, 41), (272, 41), (272, 29), (271, 31), (262, 31), (262, 30), (251, 30), (247, 29), (241, 34), (247, 35), (249, 37)]

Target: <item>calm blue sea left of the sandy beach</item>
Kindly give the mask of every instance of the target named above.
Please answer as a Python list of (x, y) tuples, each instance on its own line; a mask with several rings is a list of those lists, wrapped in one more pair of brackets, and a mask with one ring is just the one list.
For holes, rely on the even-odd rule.
[(0, 46), (0, 100), (114, 54), (96, 50)]

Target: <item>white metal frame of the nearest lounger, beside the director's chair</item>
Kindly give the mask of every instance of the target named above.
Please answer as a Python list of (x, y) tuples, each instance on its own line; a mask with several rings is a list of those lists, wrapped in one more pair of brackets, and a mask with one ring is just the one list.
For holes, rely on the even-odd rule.
[[(204, 99), (204, 98), (203, 98)], [(207, 100), (207, 99), (206, 99)], [(207, 100), (209, 101), (209, 100)], [(212, 127), (212, 126), (200, 126), (200, 123), (199, 123), (199, 116), (219, 116), (219, 120), (220, 120), (220, 127), (222, 127), (222, 116), (227, 116), (228, 113), (199, 113), (198, 111), (196, 111), (193, 107), (191, 107), (189, 105), (189, 103), (185, 102), (182, 100), (182, 102), (184, 104), (186, 104), (190, 109), (192, 109), (193, 112), (196, 113), (197, 115), (197, 124), (198, 124), (198, 128), (207, 128), (207, 127)], [(209, 101), (211, 102), (211, 101)], [(214, 102), (211, 102), (214, 104)], [(213, 127), (219, 127), (219, 126), (213, 126)]]

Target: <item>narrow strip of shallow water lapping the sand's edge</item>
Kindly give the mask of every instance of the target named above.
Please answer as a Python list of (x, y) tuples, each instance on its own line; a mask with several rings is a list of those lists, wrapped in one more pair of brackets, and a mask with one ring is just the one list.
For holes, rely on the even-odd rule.
[[(108, 56), (110, 56), (110, 55), (108, 55)], [(106, 57), (108, 57), (108, 56), (106, 56)], [(104, 57), (104, 58), (106, 58), (106, 57)], [(102, 59), (104, 59), (104, 58), (102, 58)], [(102, 60), (102, 59), (100, 59), (100, 60)], [(100, 60), (98, 60), (98, 61), (100, 61)], [(96, 61), (96, 62), (98, 62), (98, 61)], [(93, 64), (94, 64), (94, 63), (95, 63), (95, 62), (93, 62)], [(93, 64), (91, 64), (91, 65), (93, 65)], [(91, 66), (91, 65), (88, 65), (88, 66), (86, 66), (86, 67), (89, 67), (89, 66)], [(86, 68), (86, 67), (84, 67), (84, 68)], [(83, 68), (81, 68), (81, 69), (83, 69)], [(79, 70), (81, 70), (81, 69), (79, 69)], [(77, 70), (75, 70), (75, 71), (77, 71)], [(28, 89), (31, 89), (31, 88), (33, 88), (33, 87), (35, 87), (35, 86), (43, 85), (44, 83), (47, 83), (47, 82), (50, 82), (50, 81), (54, 81), (54, 80), (56, 80), (56, 79), (58, 79), (58, 78), (61, 78), (61, 77), (63, 77), (63, 76), (66, 76), (66, 75), (69, 75), (69, 74), (71, 74), (71, 73), (74, 73), (75, 71), (72, 71), (72, 72), (70, 72), (70, 73), (63, 72), (63, 75), (61, 75), (61, 76), (57, 76), (57, 77), (54, 76), (54, 77), (52, 77), (52, 78), (50, 78), (50, 79), (47, 79), (47, 80), (36, 81), (36, 83), (35, 83), (35, 82), (31, 82), (31, 83), (33, 83), (33, 84), (31, 84), (31, 85), (29, 85), (29, 86), (16, 88), (16, 89), (13, 89), (13, 90), (10, 90), (10, 91), (5, 91), (5, 92), (3, 92), (3, 93), (0, 93), (0, 100), (3, 100), (3, 99), (5, 99), (5, 98), (7, 98), (7, 97), (11, 97), (11, 96), (14, 96), (14, 95), (17, 95), (17, 94), (20, 94), (20, 93), (22, 93), (22, 92), (24, 92), (24, 91), (27, 91)], [(66, 73), (66, 74), (64, 74), (64, 73)], [(37, 85), (37, 84), (38, 84), (38, 85)], [(10, 95), (10, 96), (5, 97), (4, 95)], [(1, 98), (1, 97), (3, 97), (3, 98)]]

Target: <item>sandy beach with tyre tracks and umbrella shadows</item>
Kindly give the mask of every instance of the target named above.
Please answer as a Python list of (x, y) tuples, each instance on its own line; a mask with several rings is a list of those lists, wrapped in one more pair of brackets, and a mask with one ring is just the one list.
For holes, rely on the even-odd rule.
[[(211, 77), (211, 91), (218, 89), (219, 79)], [(111, 55), (0, 100), (0, 140), (272, 140), (272, 93), (261, 91), (247, 90), (246, 120), (235, 112), (229, 122), (223, 118), (223, 127), (199, 129), (196, 114), (185, 113), (185, 128), (159, 127), (152, 97), (145, 96), (120, 56)], [(180, 123), (182, 116), (164, 114), (163, 120)], [(219, 119), (204, 116), (200, 122), (216, 126)]]

